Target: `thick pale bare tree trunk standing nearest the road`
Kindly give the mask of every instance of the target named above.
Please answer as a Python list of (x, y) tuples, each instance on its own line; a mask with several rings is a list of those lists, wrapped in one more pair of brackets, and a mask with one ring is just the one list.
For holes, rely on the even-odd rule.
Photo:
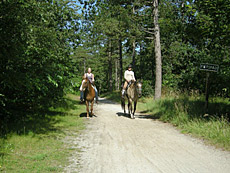
[(161, 44), (160, 44), (160, 27), (158, 23), (158, 0), (153, 0), (154, 14), (154, 36), (155, 36), (155, 58), (156, 58), (156, 81), (155, 81), (155, 97), (161, 98), (162, 87), (162, 62), (161, 62)]

